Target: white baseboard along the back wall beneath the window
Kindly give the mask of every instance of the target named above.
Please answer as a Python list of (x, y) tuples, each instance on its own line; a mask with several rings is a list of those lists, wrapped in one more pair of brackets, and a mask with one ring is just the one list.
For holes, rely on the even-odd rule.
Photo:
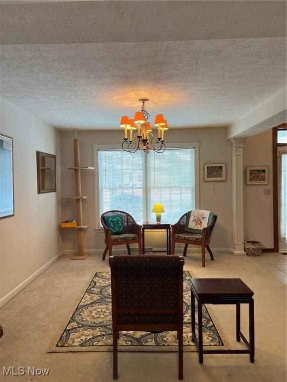
[[(151, 248), (147, 247), (145, 248), (145, 252), (161, 252), (161, 251), (166, 251), (166, 248)], [(211, 248), (211, 251), (213, 253), (232, 253), (232, 248)], [(86, 249), (84, 250), (84, 253), (89, 252), (92, 254), (103, 254), (104, 248), (103, 249)], [(139, 253), (139, 249), (137, 247), (131, 247), (131, 252), (132, 253)], [(64, 255), (74, 255), (77, 253), (76, 249), (65, 249), (63, 251)], [(113, 253), (127, 253), (127, 248), (116, 248), (116, 246), (113, 248)], [(183, 247), (181, 249), (175, 249), (176, 254), (183, 253)], [(201, 253), (201, 248), (188, 248), (187, 253)], [(244, 252), (246, 255), (246, 253)]]

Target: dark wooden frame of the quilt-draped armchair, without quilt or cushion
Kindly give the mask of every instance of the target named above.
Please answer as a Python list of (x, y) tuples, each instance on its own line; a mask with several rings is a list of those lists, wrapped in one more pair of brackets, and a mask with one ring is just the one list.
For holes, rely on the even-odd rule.
[(186, 212), (184, 215), (180, 217), (180, 219), (177, 221), (177, 223), (171, 225), (171, 255), (174, 255), (174, 249), (175, 249), (175, 243), (183, 243), (184, 250), (183, 250), (183, 256), (186, 256), (187, 247), (188, 244), (192, 245), (200, 245), (201, 246), (201, 260), (202, 260), (202, 267), (205, 267), (205, 248), (209, 252), (211, 260), (214, 260), (213, 253), (209, 247), (210, 244), (210, 238), (212, 231), (214, 229), (214, 225), (217, 220), (217, 216), (214, 215), (209, 223), (209, 225), (202, 229), (202, 239), (201, 241), (195, 241), (195, 240), (183, 240), (183, 239), (176, 239), (175, 235), (180, 233), (191, 233), (187, 232), (184, 229), (186, 218), (187, 218), (188, 212)]

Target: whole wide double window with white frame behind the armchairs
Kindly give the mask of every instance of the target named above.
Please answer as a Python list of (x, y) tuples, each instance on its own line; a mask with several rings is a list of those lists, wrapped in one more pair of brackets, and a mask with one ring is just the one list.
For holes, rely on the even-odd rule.
[(130, 154), (122, 149), (94, 146), (96, 173), (96, 226), (103, 212), (129, 212), (138, 223), (155, 221), (151, 209), (161, 202), (162, 221), (175, 223), (196, 205), (198, 172), (197, 144), (170, 148), (164, 153), (142, 151)]

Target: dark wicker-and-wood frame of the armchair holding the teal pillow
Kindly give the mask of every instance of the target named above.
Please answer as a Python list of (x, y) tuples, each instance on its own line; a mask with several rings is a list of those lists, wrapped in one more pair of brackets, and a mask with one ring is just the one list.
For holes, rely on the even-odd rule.
[[(122, 240), (122, 241), (112, 241), (112, 233), (110, 228), (106, 226), (104, 216), (112, 216), (112, 215), (121, 215), (123, 217), (125, 233), (132, 233), (138, 235), (138, 239), (136, 240)], [(101, 223), (104, 227), (105, 231), (105, 244), (106, 248), (103, 253), (102, 260), (105, 260), (106, 254), (109, 250), (109, 257), (113, 254), (113, 246), (114, 245), (126, 245), (128, 249), (128, 254), (131, 255), (130, 244), (138, 243), (139, 244), (139, 253), (142, 255), (143, 247), (142, 247), (142, 226), (139, 225), (136, 220), (130, 215), (128, 212), (119, 211), (119, 210), (111, 210), (104, 212), (101, 216)]]

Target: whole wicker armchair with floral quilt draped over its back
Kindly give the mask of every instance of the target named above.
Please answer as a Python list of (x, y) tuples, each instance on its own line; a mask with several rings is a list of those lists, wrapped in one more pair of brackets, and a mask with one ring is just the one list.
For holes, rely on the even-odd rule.
[(217, 220), (217, 216), (210, 211), (197, 210), (188, 211), (171, 225), (171, 254), (174, 255), (175, 243), (183, 243), (183, 256), (186, 256), (188, 244), (201, 246), (202, 267), (205, 267), (205, 248), (214, 260), (213, 253), (209, 247), (210, 238)]

